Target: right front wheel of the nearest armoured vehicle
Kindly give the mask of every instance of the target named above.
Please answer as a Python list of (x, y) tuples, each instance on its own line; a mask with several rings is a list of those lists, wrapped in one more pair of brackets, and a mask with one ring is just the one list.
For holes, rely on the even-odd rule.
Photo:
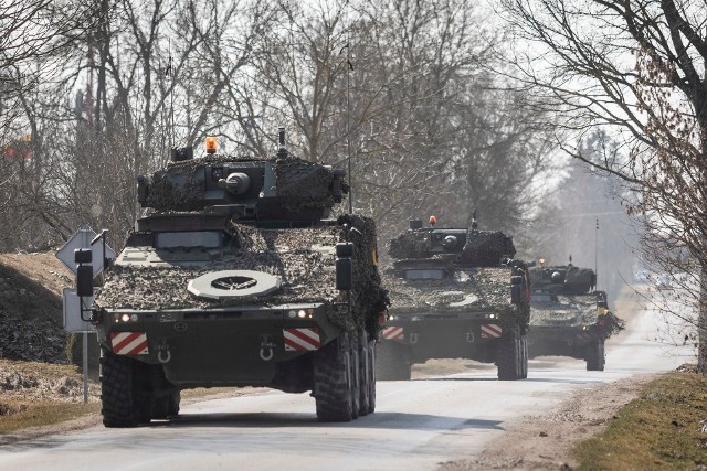
[(317, 404), (317, 418), (320, 421), (354, 419), (350, 356), (350, 343), (346, 333), (316, 352), (313, 395)]

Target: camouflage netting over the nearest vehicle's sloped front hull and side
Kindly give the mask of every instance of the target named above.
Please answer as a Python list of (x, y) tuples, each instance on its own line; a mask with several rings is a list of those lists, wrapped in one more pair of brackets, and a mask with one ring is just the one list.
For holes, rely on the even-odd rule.
[[(342, 216), (359, 234), (351, 235), (355, 244), (354, 318), (345, 308), (346, 295), (335, 287), (335, 255), (317, 249), (333, 248), (345, 240), (341, 226), (313, 228), (260, 229), (232, 223), (232, 234), (242, 250), (231, 260), (214, 260), (207, 268), (140, 267), (114, 265), (106, 271), (105, 282), (95, 297), (95, 308), (136, 310), (210, 309), (229, 306), (274, 306), (291, 302), (326, 302), (331, 321), (346, 329), (366, 325), (377, 333), (378, 313), (389, 303), (380, 288), (377, 268), (372, 264), (374, 225), (372, 220)], [(145, 247), (146, 250), (151, 248)], [(282, 288), (270, 296), (233, 297), (209, 301), (192, 296), (190, 280), (214, 270), (256, 270), (277, 276)]]

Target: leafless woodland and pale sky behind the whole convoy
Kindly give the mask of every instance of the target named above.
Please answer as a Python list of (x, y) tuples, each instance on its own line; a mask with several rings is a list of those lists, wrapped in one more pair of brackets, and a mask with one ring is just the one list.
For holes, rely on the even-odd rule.
[[(220, 152), (270, 157), (284, 127), (297, 157), (350, 163), (351, 205), (376, 220), (383, 260), (409, 220), (468, 226), (476, 211), (481, 228), (514, 236), (519, 258), (595, 268), (610, 300), (644, 265), (699, 280), (705, 228), (690, 233), (686, 221), (705, 214), (695, 213), (707, 174), (701, 111), (671, 85), (679, 68), (648, 45), (671, 38), (677, 15), (697, 32), (687, 50), (707, 57), (705, 12), (633, 3), (3, 2), (0, 250), (56, 248), (82, 225), (108, 229), (119, 249), (140, 214), (136, 176), (163, 167), (172, 147), (200, 156), (217, 136)], [(587, 23), (594, 17), (613, 30)], [(644, 18), (657, 22), (641, 31), (663, 34), (636, 40)], [(602, 68), (612, 61), (621, 74)], [(697, 75), (704, 85), (704, 67)], [(668, 88), (676, 95), (657, 93)], [(665, 108), (669, 117), (652, 114)], [(689, 131), (666, 137), (671, 119)], [(697, 205), (680, 220), (656, 200), (675, 201), (665, 176), (679, 170), (646, 169), (683, 154), (701, 170), (679, 188)], [(693, 313), (679, 311), (687, 330), (674, 339), (697, 342), (704, 290), (690, 289)]]

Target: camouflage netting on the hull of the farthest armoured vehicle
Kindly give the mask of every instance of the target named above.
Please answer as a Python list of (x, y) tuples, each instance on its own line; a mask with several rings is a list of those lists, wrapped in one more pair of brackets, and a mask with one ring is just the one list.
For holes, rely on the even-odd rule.
[[(549, 302), (530, 301), (530, 325), (544, 327), (582, 327), (591, 325), (599, 319), (597, 300), (599, 292), (590, 295), (566, 296), (557, 295), (557, 300)], [(624, 321), (609, 311), (605, 338), (619, 333), (624, 329)]]

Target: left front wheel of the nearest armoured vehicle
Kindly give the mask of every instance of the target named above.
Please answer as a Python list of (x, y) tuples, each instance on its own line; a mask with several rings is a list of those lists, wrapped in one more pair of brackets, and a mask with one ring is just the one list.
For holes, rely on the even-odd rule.
[[(106, 427), (137, 427), (144, 407), (134, 388), (135, 361), (103, 350), (101, 355), (101, 414)], [(147, 417), (149, 421), (149, 417)]]

